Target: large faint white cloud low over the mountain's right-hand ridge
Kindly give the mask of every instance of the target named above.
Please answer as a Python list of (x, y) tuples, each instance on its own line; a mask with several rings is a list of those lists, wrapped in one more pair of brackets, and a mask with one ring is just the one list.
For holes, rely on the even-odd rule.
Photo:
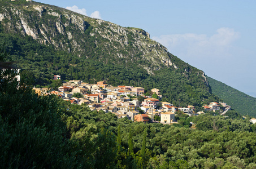
[(153, 37), (155, 41), (166, 46), (168, 50), (181, 59), (190, 60), (191, 57), (223, 57), (230, 56), (232, 43), (240, 38), (240, 33), (230, 28), (219, 28), (216, 34), (171, 34)]

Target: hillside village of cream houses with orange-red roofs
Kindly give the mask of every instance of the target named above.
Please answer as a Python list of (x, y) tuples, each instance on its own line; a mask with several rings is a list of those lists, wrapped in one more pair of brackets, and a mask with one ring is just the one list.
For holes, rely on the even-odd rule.
[[(60, 75), (54, 75), (54, 80), (60, 80)], [(49, 88), (33, 88), (38, 95), (54, 94), (71, 104), (86, 104), (90, 110), (102, 110), (105, 113), (114, 113), (116, 117), (127, 117), (131, 121), (150, 122), (156, 119), (160, 123), (175, 123), (175, 113), (180, 111), (189, 116), (205, 114), (205, 112), (220, 110), (220, 104), (224, 107), (225, 114), (231, 106), (225, 103), (212, 102), (203, 105), (205, 112), (195, 112), (193, 105), (176, 107), (166, 101), (161, 101), (162, 95), (157, 88), (146, 95), (142, 87), (111, 86), (104, 81), (97, 84), (84, 83), (80, 80), (63, 82), (63, 86), (57, 90)], [(79, 97), (78, 97), (79, 96)], [(142, 98), (142, 99), (141, 99)]]

